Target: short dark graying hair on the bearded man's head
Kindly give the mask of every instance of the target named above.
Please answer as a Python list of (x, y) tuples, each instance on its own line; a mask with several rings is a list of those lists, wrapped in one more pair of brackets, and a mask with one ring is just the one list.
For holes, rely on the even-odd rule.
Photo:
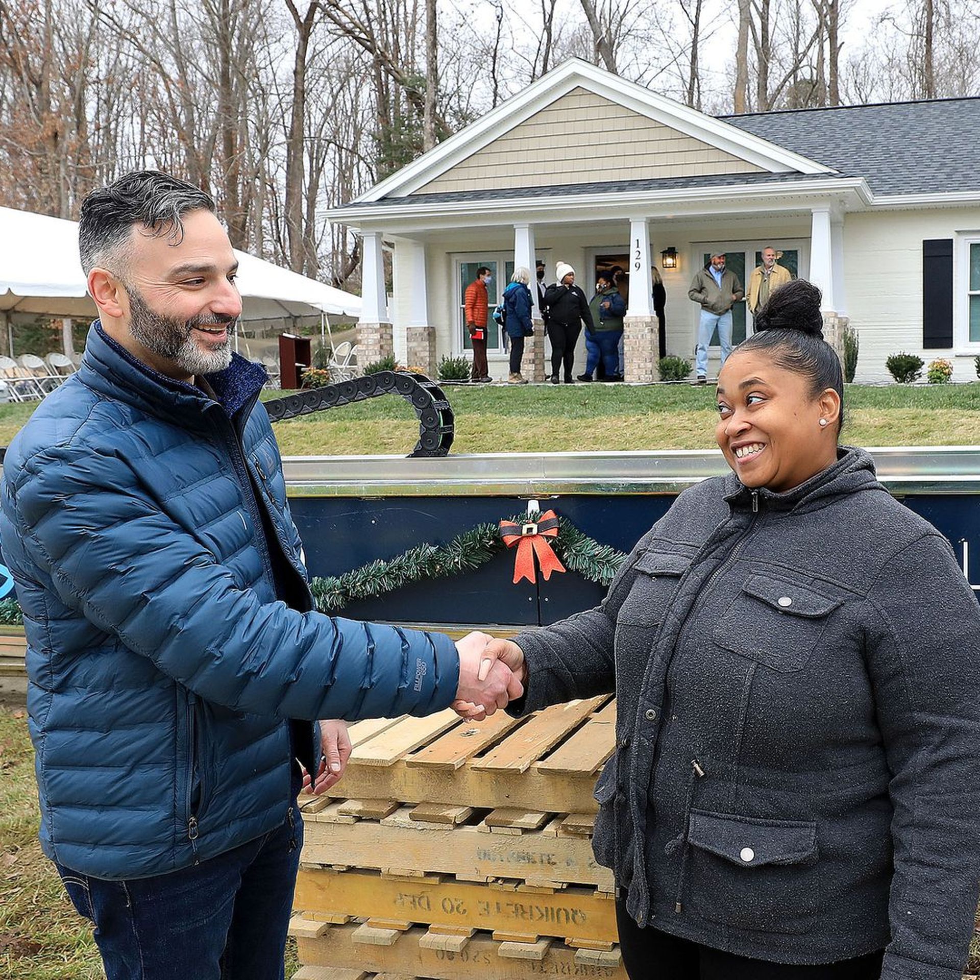
[(81, 202), (81, 268), (87, 275), (93, 266), (103, 266), (122, 276), (134, 224), (151, 235), (169, 234), (179, 243), (183, 239), (183, 216), (202, 210), (214, 214), (214, 199), (186, 180), (160, 171), (126, 173), (107, 187), (93, 190)]

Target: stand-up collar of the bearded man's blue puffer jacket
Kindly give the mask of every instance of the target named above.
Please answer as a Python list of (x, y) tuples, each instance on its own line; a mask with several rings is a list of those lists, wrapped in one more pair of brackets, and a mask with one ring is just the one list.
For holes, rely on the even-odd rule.
[[(231, 355), (231, 364), (203, 375), (228, 417), (251, 405), (266, 383), (266, 368)], [(202, 413), (214, 401), (201, 388), (143, 364), (113, 340), (95, 320), (85, 340), (78, 379), (101, 395), (118, 399), (154, 416), (178, 417), (182, 424), (203, 424)]]

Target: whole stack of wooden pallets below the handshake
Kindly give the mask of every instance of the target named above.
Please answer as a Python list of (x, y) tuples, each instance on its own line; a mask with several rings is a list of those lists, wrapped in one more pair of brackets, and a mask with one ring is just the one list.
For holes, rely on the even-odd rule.
[(297, 980), (624, 980), (613, 878), (591, 848), (614, 731), (606, 697), (353, 725), (344, 796), (301, 800)]

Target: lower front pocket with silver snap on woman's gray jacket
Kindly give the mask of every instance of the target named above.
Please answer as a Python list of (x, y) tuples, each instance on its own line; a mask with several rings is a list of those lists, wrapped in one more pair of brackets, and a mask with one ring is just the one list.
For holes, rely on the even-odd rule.
[(816, 822), (691, 810), (683, 906), (714, 922), (801, 933), (822, 905)]

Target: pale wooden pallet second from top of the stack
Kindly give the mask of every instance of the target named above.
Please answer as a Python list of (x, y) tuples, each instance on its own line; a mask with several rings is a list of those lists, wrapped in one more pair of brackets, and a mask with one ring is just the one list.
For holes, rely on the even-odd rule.
[[(322, 799), (322, 798), (320, 798)], [(613, 890), (613, 873), (592, 857), (593, 815), (535, 814), (543, 823), (522, 828), (505, 809), (421, 804), (371, 809), (368, 801), (330, 802), (304, 809), (303, 858), (311, 864), (348, 865), (393, 874), (455, 875), (466, 881), (519, 879), (530, 885), (591, 885)]]

